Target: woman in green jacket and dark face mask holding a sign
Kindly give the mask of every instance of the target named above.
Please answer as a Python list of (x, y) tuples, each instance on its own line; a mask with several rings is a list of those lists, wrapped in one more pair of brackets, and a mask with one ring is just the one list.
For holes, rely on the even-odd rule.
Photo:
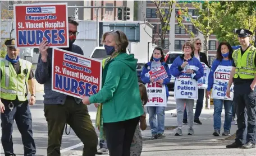
[(111, 55), (104, 67), (102, 89), (83, 103), (103, 103), (104, 133), (110, 156), (130, 156), (130, 147), (140, 116), (143, 115), (134, 54), (126, 54), (129, 44), (124, 32), (112, 30), (102, 36), (107, 55)]

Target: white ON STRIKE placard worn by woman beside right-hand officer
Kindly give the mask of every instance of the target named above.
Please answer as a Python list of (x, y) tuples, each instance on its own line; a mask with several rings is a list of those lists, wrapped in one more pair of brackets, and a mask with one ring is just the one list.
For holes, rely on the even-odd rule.
[(214, 72), (212, 98), (222, 100), (233, 100), (234, 98), (234, 85), (230, 87), (230, 98), (226, 96), (227, 84), (230, 77), (232, 67), (219, 65)]

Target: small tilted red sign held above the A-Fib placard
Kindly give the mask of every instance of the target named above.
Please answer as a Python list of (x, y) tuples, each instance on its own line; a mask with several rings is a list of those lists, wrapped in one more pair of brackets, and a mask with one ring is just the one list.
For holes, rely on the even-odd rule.
[(156, 69), (150, 70), (148, 73), (150, 75), (150, 78), (153, 79), (153, 83), (156, 83), (157, 81), (168, 77), (163, 65)]

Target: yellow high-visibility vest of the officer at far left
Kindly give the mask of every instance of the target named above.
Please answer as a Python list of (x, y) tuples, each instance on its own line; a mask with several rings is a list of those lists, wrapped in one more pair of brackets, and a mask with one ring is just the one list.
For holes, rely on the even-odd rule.
[[(1, 98), (5, 100), (15, 100), (16, 96), (19, 101), (26, 101), (27, 88), (26, 84), (29, 79), (29, 73), (32, 63), (19, 59), (20, 74), (17, 74), (11, 62), (6, 59), (1, 60)], [(28, 73), (25, 74), (25, 71)]]

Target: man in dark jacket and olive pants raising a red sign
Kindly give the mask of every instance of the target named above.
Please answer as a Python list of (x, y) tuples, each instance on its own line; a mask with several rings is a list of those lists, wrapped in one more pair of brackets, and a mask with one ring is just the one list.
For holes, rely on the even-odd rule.
[[(78, 34), (77, 26), (78, 23), (76, 21), (71, 18), (68, 19), (70, 45), (69, 48), (62, 49), (83, 55), (83, 50), (73, 44)], [(97, 152), (98, 137), (90, 120), (87, 106), (83, 105), (79, 98), (52, 91), (52, 78), (55, 76), (52, 75), (52, 49), (49, 49), (47, 41), (43, 41), (39, 46), (39, 51), (40, 55), (35, 78), (40, 84), (44, 84), (44, 116), (48, 124), (47, 155), (61, 155), (61, 139), (66, 122), (83, 142), (83, 155), (95, 155)], [(73, 65), (72, 67), (75, 66)]]

